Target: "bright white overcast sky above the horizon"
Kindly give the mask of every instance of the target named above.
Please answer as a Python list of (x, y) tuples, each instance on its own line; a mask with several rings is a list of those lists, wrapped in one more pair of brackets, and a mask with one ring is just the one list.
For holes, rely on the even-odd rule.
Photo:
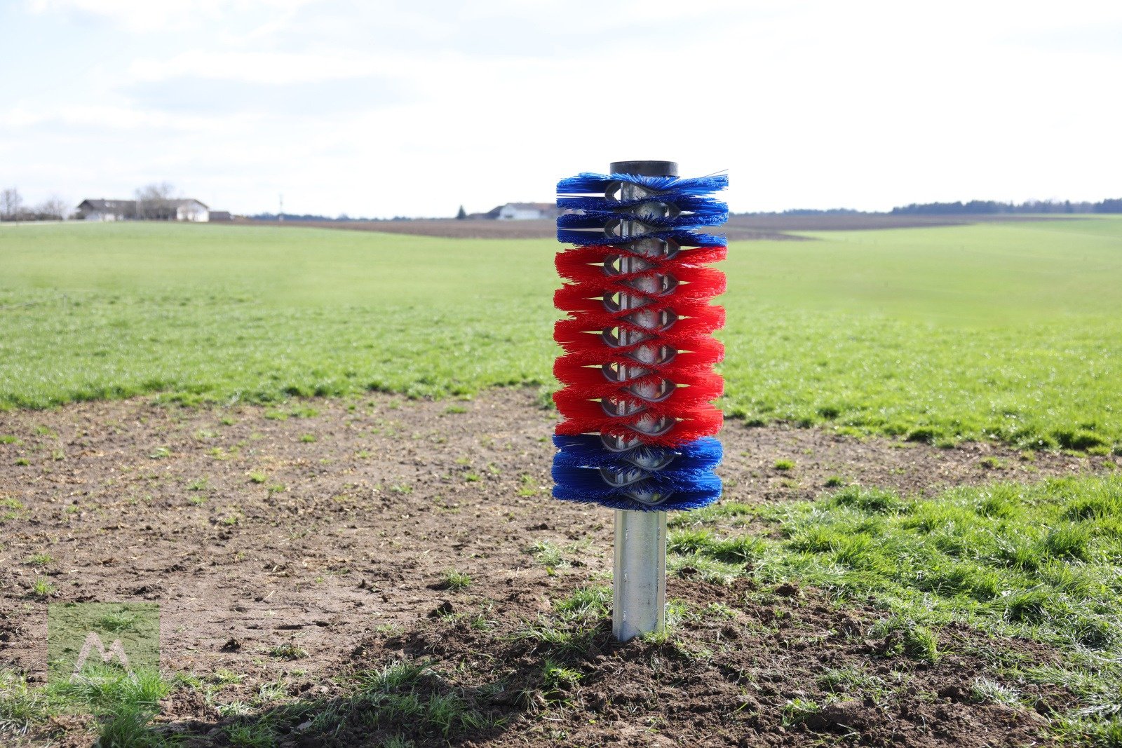
[(0, 187), (451, 215), (610, 160), (736, 211), (1122, 196), (1122, 2), (0, 0)]

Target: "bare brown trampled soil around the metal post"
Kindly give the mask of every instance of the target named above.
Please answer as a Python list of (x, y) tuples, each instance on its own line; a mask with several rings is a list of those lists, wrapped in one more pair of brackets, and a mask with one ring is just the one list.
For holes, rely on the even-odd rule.
[[(488, 391), (470, 401), (374, 394), (275, 407), (188, 409), (132, 399), (0, 413), (0, 436), (15, 437), (0, 443), (0, 666), (25, 671), (33, 682), (45, 675), (48, 600), (31, 593), (40, 576), (53, 585), (50, 602), (159, 602), (166, 669), (205, 675), (224, 668), (245, 674), (250, 685), (287, 678), (309, 689), (328, 687), (327, 678), (356, 657), (373, 665), (395, 646), (405, 647), (379, 631), (413, 630), (424, 638), (440, 630), (447, 622), (429, 615), (445, 601), (453, 606), (491, 601), (505, 608), (500, 615), (508, 621), (505, 626), (533, 619), (549, 610), (555, 594), (603, 579), (610, 569), (610, 512), (549, 497), (554, 417), (540, 407), (533, 391), (518, 389)], [(1031, 480), (1069, 474), (1100, 468), (1106, 460), (1059, 454), (1026, 460), (992, 445), (938, 450), (813, 430), (749, 428), (738, 422), (727, 424), (721, 438), (726, 500), (744, 502), (809, 498), (833, 477), (929, 493), (940, 486), (999, 477)], [(780, 460), (793, 461), (794, 468), (776, 469)], [(550, 575), (526, 552), (539, 541), (568, 547), (572, 565)], [(47, 554), (50, 561), (35, 565), (29, 561), (35, 554)], [(441, 589), (443, 574), (452, 569), (473, 580), (468, 599), (450, 600)], [(725, 593), (697, 582), (678, 594), (696, 602), (692, 598)], [(811, 617), (808, 622), (802, 613), (791, 612), (799, 626), (811, 628), (789, 632), (788, 639), (813, 638), (818, 635), (811, 630), (821, 634), (848, 626), (849, 613), (816, 602), (812, 592), (808, 595), (799, 606), (817, 606), (821, 620)], [(746, 619), (741, 617), (755, 615), (741, 606), (737, 620), (743, 624)], [(866, 622), (863, 619), (858, 628)], [(448, 645), (451, 654), (441, 656), (459, 657), (456, 647), (477, 641), (456, 644), (458, 636), (444, 636), (453, 644)], [(774, 652), (761, 653), (756, 639), (745, 636), (738, 629), (736, 636), (726, 637), (733, 644), (723, 640), (720, 652), (738, 653), (735, 656), (721, 654), (703, 667), (686, 663), (684, 669), (673, 671), (674, 687), (689, 696), (675, 709), (717, 687), (709, 683), (712, 673), (748, 666), (770, 671), (779, 665), (758, 658), (790, 648), (776, 644)], [(636, 663), (657, 655), (650, 648), (653, 645), (619, 649), (601, 639), (597, 647), (609, 652), (604, 654), (607, 659), (592, 657), (583, 665), (601, 668), (603, 674), (583, 681), (581, 689), (592, 682), (623, 684), (641, 677)], [(487, 656), (521, 656), (502, 652), (503, 637), (488, 641)], [(862, 649), (870, 645), (859, 636), (844, 641), (849, 654), (843, 659), (873, 656)], [(296, 645), (306, 656), (297, 661), (275, 656), (275, 648), (285, 644)], [(802, 652), (800, 675), (792, 684), (810, 677), (807, 668), (819, 656), (806, 647)], [(968, 690), (974, 665), (968, 658), (962, 662), (944, 675), (958, 678)], [(733, 703), (734, 686), (741, 687), (738, 677), (723, 676), (720, 693), (715, 694), (726, 707)], [(936, 685), (922, 681), (917, 693), (926, 694)], [(754, 696), (758, 709), (736, 713), (760, 714), (761, 726), (783, 727), (776, 704), (806, 687), (775, 686), (774, 698)], [(623, 712), (604, 711), (619, 699), (596, 696), (592, 691), (582, 694), (580, 719), (587, 722), (589, 713), (603, 712), (601, 721), (577, 724), (572, 720), (578, 718), (569, 715), (563, 731), (591, 745), (599, 742), (594, 739), (598, 726), (623, 720)], [(660, 696), (668, 698), (669, 693)], [(643, 699), (634, 703), (646, 705), (636, 709), (656, 717), (657, 704)], [(980, 720), (992, 726), (985, 735), (1020, 735), (1014, 724), (1020, 722), (978, 712), (981, 707), (963, 708), (973, 717), (963, 715), (966, 712), (954, 717), (962, 711), (958, 707), (941, 708), (951, 714), (947, 720), (960, 726), (947, 728), (947, 736), (976, 733)], [(193, 719), (206, 718), (209, 708), (201, 702), (192, 709), (197, 711)], [(939, 718), (919, 702), (908, 709), (920, 722)], [(747, 735), (748, 728), (758, 729), (737, 719), (728, 726), (732, 732), (712, 732), (717, 730), (712, 718), (697, 717), (697, 730), (674, 732), (674, 739), (725, 736), (714, 738), (721, 744), (729, 736)], [(499, 740), (497, 745), (516, 735), (522, 736), (518, 740), (536, 741), (525, 730), (541, 724), (532, 717), (519, 724), (524, 729), (477, 737), (482, 742)], [(880, 729), (870, 728), (868, 735)], [(636, 735), (638, 745), (649, 745), (653, 733)], [(758, 745), (803, 745), (794, 733), (769, 735), (771, 742)], [(899, 735), (903, 742), (883, 745), (986, 745), (949, 742), (949, 737), (945, 742), (923, 742), (918, 732), (914, 738)]]

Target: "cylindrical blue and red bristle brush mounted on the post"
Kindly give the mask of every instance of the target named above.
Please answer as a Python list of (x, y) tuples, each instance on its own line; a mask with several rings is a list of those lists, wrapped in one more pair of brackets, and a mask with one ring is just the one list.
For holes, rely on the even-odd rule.
[[(638, 163), (642, 165), (642, 163)], [(711, 333), (724, 310), (727, 176), (680, 178), (580, 174), (558, 183), (558, 255), (567, 280), (554, 295), (568, 313), (554, 340), (561, 413), (553, 496), (615, 509), (706, 506), (720, 496), (711, 400), (724, 354)]]

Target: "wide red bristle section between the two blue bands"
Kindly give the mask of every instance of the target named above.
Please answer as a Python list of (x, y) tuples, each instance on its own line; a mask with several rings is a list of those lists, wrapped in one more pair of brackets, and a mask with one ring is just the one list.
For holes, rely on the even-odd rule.
[[(565, 385), (554, 395), (563, 418), (558, 434), (615, 434), (678, 446), (720, 428), (723, 417), (711, 400), (724, 391), (724, 381), (712, 366), (724, 347), (712, 332), (724, 324), (725, 311), (710, 299), (725, 292), (725, 276), (703, 266), (725, 259), (727, 251), (687, 249), (664, 258), (583, 247), (557, 256), (558, 273), (569, 281), (554, 294), (558, 308), (569, 313), (554, 326), (554, 340), (565, 351), (553, 368)], [(641, 259), (642, 269), (617, 271), (623, 257)], [(631, 307), (613, 310), (620, 295)], [(619, 343), (627, 335), (635, 342)], [(652, 352), (657, 354), (647, 362)], [(613, 367), (607, 372), (606, 364)], [(637, 410), (613, 415), (601, 403)], [(657, 436), (645, 433), (652, 419), (673, 426)]]

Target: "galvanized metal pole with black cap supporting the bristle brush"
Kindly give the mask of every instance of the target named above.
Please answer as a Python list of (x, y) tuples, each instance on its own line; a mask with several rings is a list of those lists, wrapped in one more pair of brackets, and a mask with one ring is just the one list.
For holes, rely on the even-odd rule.
[[(611, 174), (678, 176), (673, 161), (615, 161)], [(624, 197), (633, 190), (623, 188)], [(631, 236), (633, 227), (624, 222), (620, 231)], [(633, 271), (633, 260), (623, 261), (624, 271)], [(642, 297), (620, 294), (619, 305), (631, 308)], [(632, 343), (623, 335), (624, 343)], [(626, 376), (625, 376), (626, 378)], [(619, 641), (643, 634), (661, 631), (666, 618), (666, 512), (616, 510), (615, 563), (613, 578), (611, 632)]]

